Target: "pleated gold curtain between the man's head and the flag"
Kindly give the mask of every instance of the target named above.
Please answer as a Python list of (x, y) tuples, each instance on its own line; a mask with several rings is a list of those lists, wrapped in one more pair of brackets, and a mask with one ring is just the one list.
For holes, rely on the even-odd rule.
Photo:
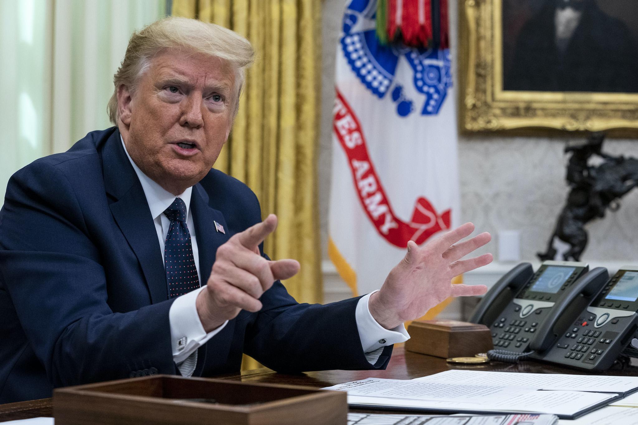
[[(301, 270), (286, 280), (286, 289), (299, 302), (321, 302), (316, 193), (321, 2), (174, 0), (172, 14), (223, 25), (253, 44), (257, 59), (215, 168), (253, 189), (263, 216), (276, 213), (279, 225), (265, 241), (265, 252), (299, 260)], [(252, 359), (242, 365), (256, 366)]]

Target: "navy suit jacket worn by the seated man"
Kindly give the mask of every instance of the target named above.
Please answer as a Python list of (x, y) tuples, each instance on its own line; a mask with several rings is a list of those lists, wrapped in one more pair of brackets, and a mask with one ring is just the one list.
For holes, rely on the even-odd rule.
[[(246, 185), (214, 169), (193, 187), (191, 208), (205, 284), (219, 245), (259, 222), (260, 208)], [(276, 282), (260, 300), (260, 312), (242, 310), (199, 349), (194, 376), (237, 372), (242, 352), (284, 372), (389, 361), (392, 347), (367, 362), (356, 298), (299, 304)], [(115, 127), (11, 177), (0, 211), (0, 403), (144, 371), (179, 373), (172, 301), (151, 212)]]

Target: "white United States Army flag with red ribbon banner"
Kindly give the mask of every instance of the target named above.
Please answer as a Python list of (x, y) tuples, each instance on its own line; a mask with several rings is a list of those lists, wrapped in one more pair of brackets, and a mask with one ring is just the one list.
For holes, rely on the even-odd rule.
[(355, 295), (459, 219), (449, 49), (380, 45), (375, 11), (348, 0), (336, 60), (329, 256)]

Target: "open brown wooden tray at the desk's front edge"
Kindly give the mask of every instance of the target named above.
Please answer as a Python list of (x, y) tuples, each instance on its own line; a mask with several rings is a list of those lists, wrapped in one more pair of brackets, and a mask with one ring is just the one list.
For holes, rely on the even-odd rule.
[(348, 405), (340, 391), (155, 375), (56, 389), (53, 415), (56, 425), (345, 425)]

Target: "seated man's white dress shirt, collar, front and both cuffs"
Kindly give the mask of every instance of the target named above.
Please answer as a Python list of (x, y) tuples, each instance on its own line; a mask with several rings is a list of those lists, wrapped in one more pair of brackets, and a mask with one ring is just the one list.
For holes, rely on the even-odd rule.
[[(164, 258), (164, 241), (168, 234), (168, 227), (170, 226), (170, 220), (164, 215), (163, 212), (170, 206), (175, 198), (181, 198), (186, 204), (186, 226), (191, 234), (191, 245), (193, 246), (193, 258), (195, 259), (195, 267), (197, 268), (197, 276), (201, 275), (199, 270), (199, 250), (197, 248), (197, 236), (195, 235), (195, 226), (193, 225), (193, 213), (191, 212), (191, 192), (193, 187), (189, 187), (184, 193), (175, 196), (168, 192), (159, 184), (154, 182), (149, 176), (145, 175), (137, 164), (133, 162), (131, 156), (126, 150), (124, 140), (122, 140), (122, 146), (124, 152), (137, 177), (140, 179), (142, 189), (144, 189), (144, 195), (146, 201), (149, 204), (151, 210), (151, 216), (155, 224), (155, 230), (157, 232), (159, 247), (161, 248), (162, 259)], [(197, 306), (195, 300), (200, 291), (204, 287), (189, 292), (188, 294), (177, 297), (168, 310), (168, 322), (170, 323), (170, 336), (173, 347), (173, 359), (179, 368), (182, 376), (190, 377), (195, 371), (195, 365), (197, 364), (197, 349), (204, 345), (208, 340), (215, 336), (221, 329), (223, 329), (228, 321), (224, 322), (219, 328), (214, 329), (212, 332), (206, 333), (202, 322), (199, 319), (197, 313)], [(403, 324), (397, 326), (392, 330), (383, 328), (370, 313), (368, 308), (368, 299), (371, 294), (359, 299), (357, 308), (355, 310), (355, 319), (357, 321), (357, 330), (359, 331), (359, 338), (361, 340), (361, 346), (366, 355), (367, 361), (371, 364), (375, 364), (378, 360), (383, 347), (394, 343), (404, 342), (410, 338)], [(336, 329), (338, 331), (338, 329)]]

